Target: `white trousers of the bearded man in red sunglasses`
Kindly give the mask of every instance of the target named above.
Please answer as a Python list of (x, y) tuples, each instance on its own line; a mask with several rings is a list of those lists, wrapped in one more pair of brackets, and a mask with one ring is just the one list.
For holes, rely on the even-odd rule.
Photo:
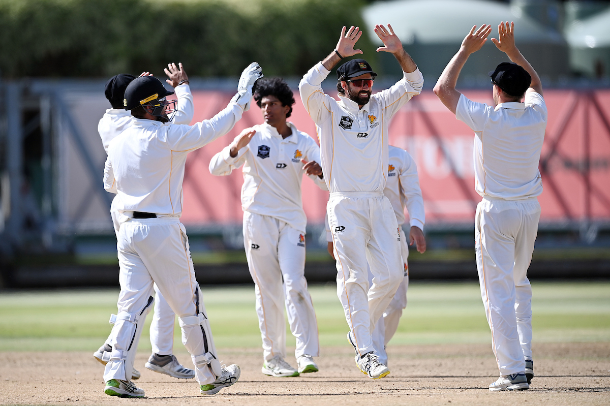
[(403, 280), (399, 227), (381, 191), (333, 192), (326, 210), (337, 260), (337, 296), (362, 356), (375, 351), (371, 334)]

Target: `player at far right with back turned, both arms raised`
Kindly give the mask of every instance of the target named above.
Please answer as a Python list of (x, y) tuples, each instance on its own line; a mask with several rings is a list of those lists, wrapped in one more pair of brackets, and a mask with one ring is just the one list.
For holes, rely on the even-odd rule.
[(540, 77), (515, 46), (514, 24), (508, 22), (500, 23), (498, 39), (492, 38), (512, 61), (489, 73), (495, 105), (473, 102), (456, 90), (462, 66), (491, 30), (486, 24), (472, 27), (434, 93), (475, 132), (475, 190), (483, 198), (475, 216), (476, 266), (500, 369), (489, 390), (526, 390), (534, 377), (527, 269), (540, 219), (538, 163), (547, 106)]

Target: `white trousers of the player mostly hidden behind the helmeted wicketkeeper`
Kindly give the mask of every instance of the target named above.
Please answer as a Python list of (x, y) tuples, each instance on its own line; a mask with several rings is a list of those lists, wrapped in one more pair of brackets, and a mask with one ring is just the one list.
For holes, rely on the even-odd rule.
[[(118, 220), (119, 212), (115, 206), (118, 202), (117, 196), (112, 199), (110, 217), (112, 217), (112, 225), (115, 229), (118, 241), (118, 232), (121, 229), (121, 223)], [(156, 300), (154, 301), (154, 314), (152, 315), (150, 328), (152, 352), (159, 355), (171, 355), (173, 354), (174, 348), (174, 322), (176, 321), (176, 314), (171, 310), (170, 305), (160, 293), (156, 284), (154, 285), (154, 291)], [(106, 339), (106, 344), (112, 346), (112, 333)]]

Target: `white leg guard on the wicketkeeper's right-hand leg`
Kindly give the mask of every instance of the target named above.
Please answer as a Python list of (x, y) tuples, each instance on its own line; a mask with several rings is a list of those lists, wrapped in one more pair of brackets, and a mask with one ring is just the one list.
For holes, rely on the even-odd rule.
[[(201, 366), (207, 365), (210, 371), (218, 377), (222, 375), (222, 368), (216, 356), (217, 352), (212, 338), (212, 329), (205, 313), (206, 308), (203, 305), (203, 301), (201, 301), (199, 287), (195, 289), (195, 297), (199, 313), (195, 316), (182, 316), (178, 318), (178, 323), (182, 329), (182, 343), (187, 347), (188, 352), (191, 353), (197, 372), (201, 372)], [(203, 346), (196, 344), (201, 340), (199, 337), (203, 338)], [(203, 352), (201, 351), (202, 349)]]

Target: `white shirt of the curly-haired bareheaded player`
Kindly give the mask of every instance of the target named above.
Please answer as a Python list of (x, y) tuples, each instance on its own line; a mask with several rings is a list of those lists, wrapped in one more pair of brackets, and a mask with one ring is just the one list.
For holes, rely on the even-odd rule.
[[(282, 138), (269, 124), (254, 126), (256, 134), (247, 146), (232, 158), (231, 145), (210, 160), (210, 173), (224, 176), (243, 165), (242, 209), (272, 216), (294, 229), (305, 231), (307, 217), (301, 199), (301, 181), (305, 171), (301, 159), (320, 163), (320, 148), (314, 139), (287, 123), (292, 135)], [(323, 179), (310, 179), (326, 190)]]

